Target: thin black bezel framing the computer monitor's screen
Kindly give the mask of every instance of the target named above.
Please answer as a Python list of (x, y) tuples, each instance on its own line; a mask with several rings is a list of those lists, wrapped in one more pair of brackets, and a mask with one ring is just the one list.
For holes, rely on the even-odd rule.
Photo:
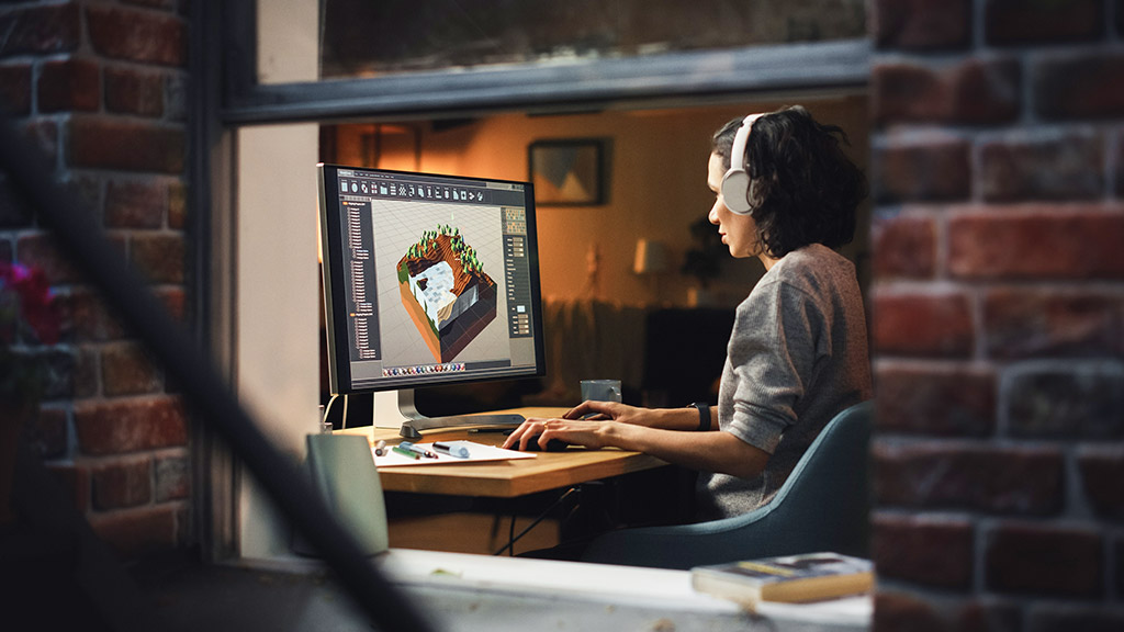
[[(344, 285), (343, 214), (339, 211), (339, 170), (365, 171), (391, 175), (434, 178), (451, 182), (495, 182), (497, 184), (519, 184), (525, 190), (525, 215), (527, 219), (527, 264), (531, 282), (531, 327), (534, 342), (535, 364), (522, 369), (513, 368), (502, 374), (480, 373), (441, 373), (437, 376), (417, 376), (395, 380), (375, 380), (372, 383), (356, 387), (351, 371), (351, 347), (347, 334), (347, 297)], [(425, 171), (404, 171), (378, 169), (336, 163), (318, 163), (318, 196), (320, 227), (320, 271), (323, 279), (324, 320), (327, 342), (328, 382), (333, 395), (354, 395), (432, 388), (472, 382), (491, 382), (502, 380), (522, 380), (541, 378), (546, 374), (545, 342), (543, 340), (543, 301), (540, 280), (538, 231), (535, 217), (534, 186), (524, 180), (504, 178), (453, 175)]]

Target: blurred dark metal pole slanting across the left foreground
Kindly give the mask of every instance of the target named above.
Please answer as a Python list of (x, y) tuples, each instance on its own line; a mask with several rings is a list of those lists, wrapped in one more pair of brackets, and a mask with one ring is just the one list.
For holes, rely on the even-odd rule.
[(96, 213), (53, 180), (54, 169), (0, 115), (0, 169), (53, 232), (62, 252), (102, 291), (106, 303), (173, 377), (199, 417), (229, 443), (277, 506), (335, 570), (356, 604), (383, 630), (427, 631), (407, 597), (375, 571), (307, 477), (257, 430), (218, 373), (103, 236)]

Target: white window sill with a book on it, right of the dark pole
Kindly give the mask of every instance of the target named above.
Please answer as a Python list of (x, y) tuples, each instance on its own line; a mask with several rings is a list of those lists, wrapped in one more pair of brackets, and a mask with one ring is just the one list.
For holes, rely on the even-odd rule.
[(762, 603), (755, 615), (691, 588), (689, 571), (391, 549), (375, 558), (442, 630), (869, 630), (870, 595)]

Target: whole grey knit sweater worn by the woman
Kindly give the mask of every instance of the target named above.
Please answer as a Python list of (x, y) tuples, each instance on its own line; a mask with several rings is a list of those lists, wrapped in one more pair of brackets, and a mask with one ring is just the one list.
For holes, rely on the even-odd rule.
[(737, 306), (718, 388), (722, 431), (771, 457), (753, 479), (703, 472), (698, 517), (768, 503), (824, 425), (870, 397), (854, 265), (819, 244), (790, 252)]

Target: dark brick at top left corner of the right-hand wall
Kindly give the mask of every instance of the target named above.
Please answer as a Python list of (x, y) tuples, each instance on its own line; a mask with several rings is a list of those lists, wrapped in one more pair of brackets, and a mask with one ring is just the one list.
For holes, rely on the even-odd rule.
[(971, 42), (970, 0), (874, 0), (868, 10), (879, 48), (966, 48)]

